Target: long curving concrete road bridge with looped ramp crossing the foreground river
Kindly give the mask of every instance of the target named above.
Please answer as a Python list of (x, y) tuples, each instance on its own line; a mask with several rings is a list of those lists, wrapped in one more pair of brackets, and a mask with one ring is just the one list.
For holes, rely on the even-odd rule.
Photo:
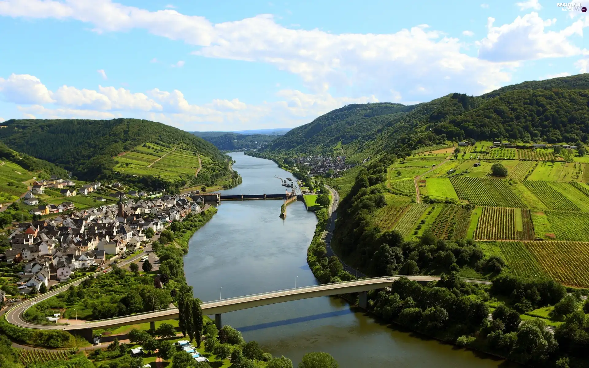
[[(390, 287), (392, 282), (399, 277), (408, 277), (410, 280), (415, 280), (421, 283), (428, 283), (429, 281), (439, 280), (437, 276), (428, 275), (411, 275), (411, 276), (388, 276), (388, 277), (375, 277), (372, 279), (360, 279), (354, 281), (343, 281), (340, 283), (323, 284), (299, 287), (297, 289), (287, 289), (272, 291), (269, 293), (254, 294), (249, 296), (234, 297), (223, 300), (207, 301), (201, 304), (203, 314), (215, 315), (215, 321), (217, 327), (221, 328), (223, 323), (221, 321), (221, 314), (228, 313), (231, 311), (249, 309), (253, 307), (266, 306), (268, 304), (284, 303), (285, 301), (293, 301), (300, 299), (309, 299), (322, 296), (333, 296), (337, 294), (348, 294), (348, 293), (360, 293), (359, 305), (363, 309), (367, 307), (366, 292), (373, 289), (382, 289)], [(485, 283), (491, 284), (490, 281), (482, 280), (464, 280), (472, 283)], [(56, 290), (57, 291), (57, 290)], [(19, 327), (25, 327), (29, 329), (41, 329), (41, 330), (66, 330), (72, 334), (83, 336), (89, 341), (92, 339), (92, 330), (95, 329), (106, 329), (108, 327), (119, 327), (127, 326), (129, 324), (147, 323), (150, 322), (151, 326), (154, 327), (155, 321), (178, 319), (178, 309), (168, 308), (163, 310), (156, 310), (153, 312), (132, 314), (130, 316), (115, 317), (112, 319), (87, 321), (82, 324), (37, 324), (29, 322), (24, 319), (24, 312), (31, 306), (39, 301), (48, 299), (53, 296), (53, 293), (47, 296), (36, 297), (34, 299), (25, 301), (18, 306), (12, 308), (6, 312), (6, 320), (9, 323), (15, 324)]]

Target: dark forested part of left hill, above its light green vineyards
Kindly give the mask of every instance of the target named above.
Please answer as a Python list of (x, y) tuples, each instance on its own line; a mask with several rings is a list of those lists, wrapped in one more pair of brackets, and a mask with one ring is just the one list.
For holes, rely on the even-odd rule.
[(213, 144), (159, 122), (113, 120), (8, 120), (0, 141), (13, 150), (47, 160), (77, 177), (108, 178), (116, 157), (145, 142), (183, 144), (219, 163), (227, 160)]

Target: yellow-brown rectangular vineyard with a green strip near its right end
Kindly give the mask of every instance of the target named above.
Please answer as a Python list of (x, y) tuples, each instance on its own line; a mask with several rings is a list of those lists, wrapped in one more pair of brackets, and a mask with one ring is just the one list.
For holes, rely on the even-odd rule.
[(530, 210), (484, 207), (474, 238), (476, 240), (532, 240), (534, 229)]

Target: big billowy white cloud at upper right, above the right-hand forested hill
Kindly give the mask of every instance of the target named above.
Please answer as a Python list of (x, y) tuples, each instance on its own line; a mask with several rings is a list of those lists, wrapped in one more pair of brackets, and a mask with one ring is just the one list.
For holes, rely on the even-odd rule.
[(583, 36), (583, 21), (574, 22), (561, 31), (545, 31), (556, 19), (543, 20), (538, 13), (518, 16), (511, 24), (493, 26), (488, 18), (487, 37), (477, 42), (479, 57), (495, 62), (514, 62), (583, 54), (568, 40), (573, 34)]

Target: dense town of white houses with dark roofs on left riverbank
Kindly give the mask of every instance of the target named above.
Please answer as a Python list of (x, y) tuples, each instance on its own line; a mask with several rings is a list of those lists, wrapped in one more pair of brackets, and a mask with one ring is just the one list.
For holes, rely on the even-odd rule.
[[(42, 193), (46, 185), (59, 185), (65, 181), (39, 182), (37, 189)], [(57, 184), (56, 184), (57, 183)], [(120, 184), (114, 183), (112, 187)], [(93, 190), (100, 183), (84, 185), (78, 190)], [(67, 190), (67, 189), (65, 189)], [(75, 195), (75, 191), (72, 192)], [(0, 255), (8, 264), (22, 264), (20, 281), (16, 283), (18, 293), (37, 293), (48, 290), (70, 280), (76, 270), (95, 271), (107, 260), (126, 258), (150, 243), (150, 238), (163, 230), (174, 220), (181, 220), (188, 213), (201, 211), (204, 202), (191, 201), (187, 195), (161, 195), (153, 199), (129, 199), (123, 201), (123, 192), (118, 203), (101, 205), (58, 214), (55, 218), (15, 223), (8, 236), (10, 248)], [(135, 193), (134, 193), (135, 194)], [(136, 193), (135, 195), (137, 195)], [(25, 195), (24, 201), (35, 203), (34, 194)], [(70, 210), (71, 204), (39, 206), (34, 214), (39, 216)], [(0, 300), (5, 291), (0, 291)]]

